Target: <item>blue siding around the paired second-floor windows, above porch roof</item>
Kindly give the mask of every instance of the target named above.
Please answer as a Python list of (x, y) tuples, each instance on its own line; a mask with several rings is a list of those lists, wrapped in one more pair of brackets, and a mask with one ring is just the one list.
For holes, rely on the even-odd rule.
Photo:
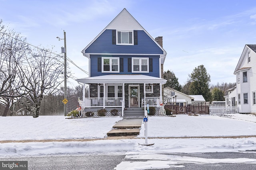
[[(119, 73), (103, 73), (103, 72), (98, 72), (98, 58), (101, 57), (119, 57), (119, 58), (123, 58), (123, 62), (124, 62), (124, 70), (123, 72), (119, 72)], [(132, 57), (148, 57), (149, 59), (152, 59), (153, 62), (153, 72), (148, 72), (148, 73), (132, 73), (132, 72), (128, 72), (128, 59), (131, 59)], [(158, 55), (90, 55), (90, 65), (92, 67), (90, 67), (90, 76), (94, 77), (94, 76), (103, 76), (103, 75), (110, 75), (110, 74), (143, 74), (143, 75), (147, 75), (147, 76), (153, 76), (153, 77), (158, 77), (159, 78), (159, 57)]]

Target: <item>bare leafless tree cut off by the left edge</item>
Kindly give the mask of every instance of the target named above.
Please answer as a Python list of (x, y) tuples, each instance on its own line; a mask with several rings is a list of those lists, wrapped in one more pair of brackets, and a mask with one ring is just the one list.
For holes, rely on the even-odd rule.
[(0, 104), (5, 106), (2, 116), (12, 115), (10, 108), (14, 99), (23, 94), (18, 93), (22, 87), (17, 65), (28, 51), (26, 38), (13, 30), (5, 29), (0, 21)]

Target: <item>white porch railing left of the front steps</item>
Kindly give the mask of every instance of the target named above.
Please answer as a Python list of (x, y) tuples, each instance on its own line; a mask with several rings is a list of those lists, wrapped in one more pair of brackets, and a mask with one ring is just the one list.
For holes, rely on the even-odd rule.
[(83, 107), (122, 107), (122, 99), (123, 98), (105, 98), (104, 100), (104, 98), (85, 98)]

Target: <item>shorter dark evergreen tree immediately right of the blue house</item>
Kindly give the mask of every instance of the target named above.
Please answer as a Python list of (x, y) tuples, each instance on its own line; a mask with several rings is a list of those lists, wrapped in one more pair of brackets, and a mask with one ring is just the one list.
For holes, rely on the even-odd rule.
[(164, 79), (167, 80), (166, 84), (164, 84), (164, 88), (170, 87), (174, 90), (181, 91), (182, 86), (178, 82), (178, 78), (175, 76), (174, 72), (170, 70), (164, 71)]

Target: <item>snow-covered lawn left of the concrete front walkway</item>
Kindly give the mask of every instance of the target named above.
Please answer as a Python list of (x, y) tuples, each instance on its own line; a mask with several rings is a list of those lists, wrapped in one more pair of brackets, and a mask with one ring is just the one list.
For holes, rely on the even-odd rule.
[[(121, 117), (65, 119), (64, 116), (0, 117), (0, 141), (104, 138)], [(4, 130), (2, 130), (4, 129)]]

